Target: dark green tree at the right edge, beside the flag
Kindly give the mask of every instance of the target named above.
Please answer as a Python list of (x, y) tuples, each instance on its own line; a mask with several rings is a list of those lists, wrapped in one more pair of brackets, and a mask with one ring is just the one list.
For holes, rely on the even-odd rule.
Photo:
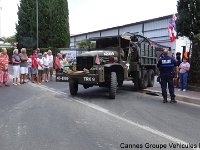
[(178, 0), (177, 32), (192, 40), (189, 81), (200, 84), (200, 1)]

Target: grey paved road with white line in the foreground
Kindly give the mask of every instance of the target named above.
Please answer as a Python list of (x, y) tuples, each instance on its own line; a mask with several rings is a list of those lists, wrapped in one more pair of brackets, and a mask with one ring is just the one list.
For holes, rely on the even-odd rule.
[(126, 144), (184, 149), (170, 148), (172, 143), (199, 148), (199, 106), (163, 104), (132, 89), (125, 84), (110, 100), (107, 89), (98, 87), (79, 87), (71, 97), (68, 83), (3, 87), (0, 150), (120, 150)]

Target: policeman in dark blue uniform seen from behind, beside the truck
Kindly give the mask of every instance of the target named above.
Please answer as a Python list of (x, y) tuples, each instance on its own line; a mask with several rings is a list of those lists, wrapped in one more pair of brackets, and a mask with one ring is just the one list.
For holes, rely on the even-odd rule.
[(167, 103), (167, 84), (171, 96), (170, 103), (177, 103), (177, 101), (175, 100), (173, 83), (175, 67), (177, 66), (177, 62), (174, 58), (168, 56), (168, 52), (169, 51), (167, 49), (163, 51), (163, 57), (160, 58), (157, 64), (161, 78), (163, 103)]

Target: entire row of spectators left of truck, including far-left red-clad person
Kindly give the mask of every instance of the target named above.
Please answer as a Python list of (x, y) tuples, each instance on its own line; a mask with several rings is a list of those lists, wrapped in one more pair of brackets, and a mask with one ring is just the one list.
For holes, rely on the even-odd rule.
[[(0, 53), (0, 87), (10, 86), (9, 82), (9, 57), (6, 48)], [(29, 56), (26, 48), (13, 50), (11, 59), (13, 67), (13, 85), (25, 84), (28, 81), (36, 84), (52, 81), (53, 71), (61, 71), (68, 64), (66, 56), (58, 53), (55, 58), (52, 51), (40, 52), (40, 49), (34, 50)]]

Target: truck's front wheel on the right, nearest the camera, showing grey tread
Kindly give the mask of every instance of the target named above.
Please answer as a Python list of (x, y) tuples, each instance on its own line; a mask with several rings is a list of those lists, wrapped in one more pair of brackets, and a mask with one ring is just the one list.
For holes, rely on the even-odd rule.
[(110, 87), (109, 87), (109, 97), (115, 99), (117, 91), (117, 75), (116, 72), (111, 72), (110, 75)]

